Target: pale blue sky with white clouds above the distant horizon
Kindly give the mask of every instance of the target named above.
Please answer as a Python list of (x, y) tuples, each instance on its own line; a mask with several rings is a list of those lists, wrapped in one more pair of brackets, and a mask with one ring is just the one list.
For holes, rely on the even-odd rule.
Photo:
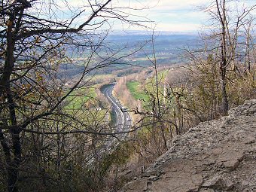
[[(61, 2), (61, 1), (59, 1)], [(69, 5), (84, 6), (85, 0), (67, 0)], [(105, 0), (97, 0), (105, 2)], [(144, 17), (154, 21), (157, 31), (168, 32), (197, 32), (208, 20), (208, 15), (200, 11), (200, 8), (210, 5), (214, 0), (112, 0), (111, 5), (114, 8), (134, 8), (125, 10), (130, 15)], [(230, 1), (229, 1), (230, 2)], [(233, 5), (239, 5), (238, 8), (244, 8), (256, 4), (256, 0), (233, 0)], [(233, 6), (236, 8), (237, 6)], [(66, 5), (62, 5), (66, 8)], [(138, 10), (139, 9), (139, 10)], [(124, 11), (124, 10), (123, 10)], [(256, 11), (252, 14), (256, 17)], [(130, 17), (138, 20), (139, 17)], [(111, 22), (110, 22), (111, 23)], [(137, 26), (126, 26), (118, 22), (111, 23), (112, 29), (133, 29), (139, 30)]]

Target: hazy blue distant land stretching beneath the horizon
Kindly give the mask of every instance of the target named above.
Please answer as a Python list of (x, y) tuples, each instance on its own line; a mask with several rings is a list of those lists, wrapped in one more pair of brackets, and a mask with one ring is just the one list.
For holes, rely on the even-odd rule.
[[(194, 49), (200, 47), (201, 41), (198, 35), (194, 34), (172, 34), (172, 32), (156, 32), (154, 35), (154, 52), (157, 57), (157, 65), (175, 65), (176, 63), (186, 62), (184, 56), (184, 48)], [(148, 60), (148, 56), (152, 58), (153, 56), (153, 46), (151, 41), (151, 34), (148, 32), (140, 32), (140, 31), (131, 31), (129, 33), (124, 32), (116, 32), (111, 33), (105, 39), (102, 44), (102, 47), (99, 48), (98, 57), (93, 58), (96, 63), (97, 61), (101, 61), (102, 59), (111, 56), (111, 54), (115, 53), (117, 50), (118, 53), (114, 54), (110, 60), (114, 60), (114, 64), (105, 68), (104, 70), (98, 70), (96, 74), (109, 74), (116, 69), (127, 69), (133, 66), (151, 66), (151, 62)], [(95, 40), (97, 41), (97, 40)], [(148, 42), (145, 44), (145, 42)], [(144, 45), (144, 47), (142, 47)], [(125, 48), (123, 48), (125, 47)], [(142, 49), (140, 49), (142, 47)], [(135, 50), (136, 53), (131, 54), (130, 56), (126, 56), (132, 53)], [(66, 68), (61, 67), (61, 69), (67, 69), (69, 72), (68, 76), (74, 76), (81, 72), (83, 68), (81, 64), (86, 61), (90, 54), (90, 47), (88, 47), (83, 53), (73, 53), (72, 47), (67, 49), (70, 56), (75, 65), (69, 66)], [(117, 59), (122, 57), (122, 59)], [(109, 60), (108, 60), (109, 61)], [(94, 71), (95, 73), (95, 71)]]

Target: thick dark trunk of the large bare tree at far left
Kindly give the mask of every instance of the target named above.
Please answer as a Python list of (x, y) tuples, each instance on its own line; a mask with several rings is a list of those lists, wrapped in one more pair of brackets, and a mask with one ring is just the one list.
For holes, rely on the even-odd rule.
[[(21, 145), (20, 145), (20, 128), (17, 127), (17, 118), (15, 113), (15, 104), (13, 99), (13, 94), (11, 90), (11, 74), (14, 70), (14, 15), (10, 16), (8, 21), (8, 31), (7, 31), (7, 47), (6, 47), (6, 56), (5, 56), (5, 73), (2, 75), (0, 80), (0, 96), (2, 96), (2, 91), (5, 90), (5, 97), (8, 100), (8, 111), (9, 117), (11, 119), (11, 129), (9, 130), (11, 134), (11, 146), (14, 153), (14, 159), (11, 160), (11, 147), (5, 145), (5, 141), (2, 135), (2, 148), (5, 149), (5, 160), (6, 160), (6, 169), (8, 172), (8, 191), (17, 192), (17, 180), (19, 173), (19, 166), (21, 161)], [(3, 133), (2, 133), (3, 134)]]

